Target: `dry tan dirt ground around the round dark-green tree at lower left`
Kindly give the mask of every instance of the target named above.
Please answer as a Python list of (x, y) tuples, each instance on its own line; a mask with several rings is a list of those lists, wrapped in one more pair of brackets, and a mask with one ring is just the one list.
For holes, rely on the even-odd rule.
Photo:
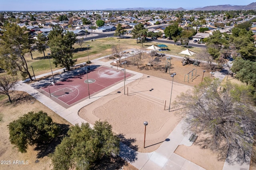
[[(18, 91), (11, 96), (17, 97), (21, 96), (20, 94), (22, 93)], [(65, 119), (48, 109), (48, 107), (27, 93), (23, 93), (22, 96), (26, 98), (20, 100), (18, 103), (7, 103), (7, 99), (3, 99), (0, 102), (0, 170), (50, 170), (52, 169), (51, 159), (48, 156), (40, 156), (40, 154), (38, 154), (39, 151), (35, 150), (34, 146), (29, 146), (26, 153), (18, 152), (18, 149), (9, 141), (9, 130), (7, 125), (30, 111), (38, 112), (40, 110), (46, 112), (55, 123), (66, 127), (72, 126), (72, 124), (68, 123)], [(54, 148), (51, 146), (46, 150), (47, 153), (52, 151), (54, 151)], [(6, 161), (10, 161), (10, 164), (7, 164)], [(16, 161), (20, 162), (17, 162), (16, 164)], [(25, 161), (28, 161), (27, 164)], [(131, 164), (126, 164), (123, 166), (123, 169), (136, 170), (137, 168)]]

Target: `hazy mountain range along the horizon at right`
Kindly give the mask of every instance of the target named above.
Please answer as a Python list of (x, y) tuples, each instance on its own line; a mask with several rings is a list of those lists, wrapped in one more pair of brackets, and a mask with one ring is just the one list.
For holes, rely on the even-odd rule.
[[(114, 9), (114, 8), (107, 8), (104, 10), (178, 10), (178, 11), (185, 11), (187, 9), (184, 8), (176, 8), (176, 9), (170, 9), (170, 8), (122, 8), (122, 9)], [(216, 5), (216, 6), (205, 6), (202, 8), (194, 8), (190, 10), (196, 10), (196, 11), (212, 11), (212, 10), (256, 10), (256, 2), (252, 2), (249, 5)]]

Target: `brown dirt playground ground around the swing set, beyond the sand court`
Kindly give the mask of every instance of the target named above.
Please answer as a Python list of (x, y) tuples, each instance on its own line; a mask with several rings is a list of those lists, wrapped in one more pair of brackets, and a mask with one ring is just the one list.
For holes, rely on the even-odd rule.
[[(170, 74), (169, 74), (169, 69), (167, 69), (167, 73), (165, 73), (166, 57), (167, 56), (152, 58), (150, 57), (149, 53), (144, 53), (142, 55), (142, 59), (138, 61), (139, 68), (136, 64), (136, 59), (137, 59), (136, 55), (132, 57), (127, 57), (126, 69), (137, 71), (147, 75), (152, 75), (154, 77), (159, 77), (161, 79), (166, 79), (170, 81), (172, 81), (170, 74), (176, 73), (173, 79), (174, 82), (181, 83), (184, 85), (189, 85), (192, 87), (194, 87), (194, 85), (198, 85), (202, 81), (203, 70), (206, 71), (204, 73), (204, 77), (211, 77), (208, 64), (199, 63), (199, 65), (196, 66), (196, 65), (193, 65), (193, 63), (191, 63), (187, 65), (182, 65), (182, 59), (176, 58), (176, 57), (171, 57), (171, 59), (168, 60), (171, 63)], [(190, 58), (191, 60), (194, 60), (194, 57), (190, 57)], [(147, 63), (149, 63), (150, 60), (157, 60), (157, 61), (159, 60), (159, 61), (158, 62), (153, 61), (152, 62), (153, 66), (150, 68), (150, 66), (147, 65)], [(101, 61), (108, 61), (108, 58), (102, 59)], [(121, 62), (124, 62), (124, 59), (121, 60)], [(116, 66), (116, 64), (114, 63), (112, 63), (112, 65)], [(121, 65), (121, 67), (123, 69), (124, 66)], [(192, 77), (193, 69), (194, 71), (193, 71), (193, 77)], [(189, 79), (188, 79), (188, 74), (189, 74)]]

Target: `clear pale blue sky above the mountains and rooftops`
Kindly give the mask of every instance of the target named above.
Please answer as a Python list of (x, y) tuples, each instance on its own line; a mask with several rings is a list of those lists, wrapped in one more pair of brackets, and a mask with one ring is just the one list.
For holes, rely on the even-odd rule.
[(184, 8), (248, 5), (256, 0), (0, 0), (0, 11), (102, 10), (106, 8)]

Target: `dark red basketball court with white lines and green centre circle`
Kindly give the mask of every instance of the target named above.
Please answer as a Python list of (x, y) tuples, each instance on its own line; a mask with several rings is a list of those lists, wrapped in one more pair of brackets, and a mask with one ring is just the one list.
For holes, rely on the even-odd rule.
[[(131, 75), (126, 73), (126, 78)], [(102, 66), (88, 71), (88, 75), (86, 75), (86, 67), (84, 67), (83, 74), (56, 82), (54, 86), (48, 85), (41, 89), (46, 92), (47, 96), (50, 97), (51, 95), (54, 101), (60, 101), (58, 102), (60, 105), (68, 108), (87, 98), (89, 96), (88, 89), (90, 97), (92, 97), (95, 93), (121, 81), (124, 81), (124, 71)]]

